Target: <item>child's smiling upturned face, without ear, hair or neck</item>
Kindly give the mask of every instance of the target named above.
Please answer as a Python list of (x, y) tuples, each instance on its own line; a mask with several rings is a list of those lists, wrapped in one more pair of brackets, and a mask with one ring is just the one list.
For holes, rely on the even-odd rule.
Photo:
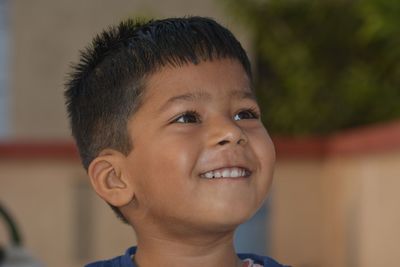
[[(138, 228), (177, 231), (248, 219), (267, 194), (275, 152), (243, 67), (230, 59), (165, 67), (145, 90), (128, 123), (137, 208), (126, 216)], [(205, 177), (218, 175), (227, 177)]]

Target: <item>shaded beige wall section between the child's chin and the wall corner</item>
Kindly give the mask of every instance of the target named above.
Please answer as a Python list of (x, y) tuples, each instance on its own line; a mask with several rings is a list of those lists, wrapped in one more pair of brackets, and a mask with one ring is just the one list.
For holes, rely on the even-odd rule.
[(317, 159), (278, 160), (271, 191), (270, 254), (296, 267), (321, 265), (322, 166)]

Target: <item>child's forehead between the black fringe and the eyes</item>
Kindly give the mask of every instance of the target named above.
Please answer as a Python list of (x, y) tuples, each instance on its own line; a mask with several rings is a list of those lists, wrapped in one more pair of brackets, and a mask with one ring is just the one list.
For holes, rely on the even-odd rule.
[(146, 79), (143, 102), (207, 101), (218, 96), (254, 99), (250, 78), (239, 61), (219, 59), (163, 67)]

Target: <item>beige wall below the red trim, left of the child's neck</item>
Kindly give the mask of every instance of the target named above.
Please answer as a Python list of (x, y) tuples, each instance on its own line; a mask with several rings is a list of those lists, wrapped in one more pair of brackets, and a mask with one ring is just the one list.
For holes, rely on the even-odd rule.
[[(1, 159), (0, 177), (0, 201), (45, 266), (78, 267), (135, 244), (133, 231), (89, 188), (78, 161)], [(0, 225), (0, 244), (8, 244)]]

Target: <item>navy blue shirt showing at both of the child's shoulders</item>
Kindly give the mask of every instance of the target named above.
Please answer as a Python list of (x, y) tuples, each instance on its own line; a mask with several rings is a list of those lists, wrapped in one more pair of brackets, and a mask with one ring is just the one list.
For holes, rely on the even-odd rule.
[[(136, 247), (131, 247), (122, 256), (115, 257), (111, 260), (96, 261), (85, 265), (85, 267), (137, 267), (132, 261), (132, 256), (135, 255), (135, 252)], [(265, 256), (254, 254), (238, 254), (238, 256), (241, 260), (252, 259), (254, 263), (261, 264), (264, 267), (285, 267), (285, 265), (281, 265), (275, 260)]]

